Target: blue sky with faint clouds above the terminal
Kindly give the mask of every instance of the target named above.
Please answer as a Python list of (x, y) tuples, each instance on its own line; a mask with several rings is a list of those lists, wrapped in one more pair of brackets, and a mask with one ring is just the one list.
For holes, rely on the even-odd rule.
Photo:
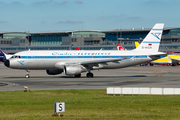
[(180, 27), (180, 0), (0, 0), (0, 32)]

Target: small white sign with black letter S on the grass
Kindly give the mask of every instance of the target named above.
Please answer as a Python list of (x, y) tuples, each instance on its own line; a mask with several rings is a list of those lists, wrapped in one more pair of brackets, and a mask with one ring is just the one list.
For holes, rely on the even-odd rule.
[(55, 113), (65, 112), (65, 102), (55, 102), (54, 103), (54, 112)]

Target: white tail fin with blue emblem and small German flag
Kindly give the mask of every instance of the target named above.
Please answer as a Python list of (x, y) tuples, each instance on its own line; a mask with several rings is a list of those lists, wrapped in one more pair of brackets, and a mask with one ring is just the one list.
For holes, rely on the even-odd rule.
[(158, 52), (163, 28), (163, 23), (155, 24), (151, 31), (148, 33), (148, 35), (144, 38), (144, 40), (135, 50)]

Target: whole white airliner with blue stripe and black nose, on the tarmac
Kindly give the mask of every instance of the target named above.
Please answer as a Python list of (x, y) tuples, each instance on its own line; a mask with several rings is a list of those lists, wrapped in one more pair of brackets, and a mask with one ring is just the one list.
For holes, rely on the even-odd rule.
[(29, 70), (46, 70), (48, 75), (65, 75), (94, 77), (91, 70), (116, 69), (153, 61), (166, 55), (158, 52), (164, 24), (157, 23), (143, 42), (134, 50), (29, 50), (14, 54), (4, 65), (13, 69), (24, 69), (29, 78)]

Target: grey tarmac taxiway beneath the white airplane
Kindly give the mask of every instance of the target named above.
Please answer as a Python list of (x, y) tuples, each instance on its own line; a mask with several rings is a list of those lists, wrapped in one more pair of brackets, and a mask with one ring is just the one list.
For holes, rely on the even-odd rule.
[(0, 91), (106, 89), (107, 87), (168, 87), (180, 88), (179, 66), (134, 66), (122, 69), (94, 70), (94, 78), (60, 75), (50, 76), (45, 70), (30, 71), (6, 68), (0, 64)]

